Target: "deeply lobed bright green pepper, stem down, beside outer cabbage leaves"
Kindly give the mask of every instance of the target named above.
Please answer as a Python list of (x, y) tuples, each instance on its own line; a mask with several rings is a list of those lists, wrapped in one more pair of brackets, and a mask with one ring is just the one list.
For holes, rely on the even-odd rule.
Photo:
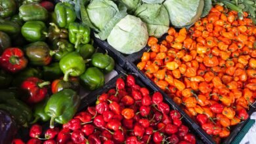
[(68, 26), (70, 43), (75, 45), (75, 48), (80, 44), (87, 44), (90, 41), (91, 30), (88, 26), (84, 24), (79, 24), (77, 22), (72, 22)]

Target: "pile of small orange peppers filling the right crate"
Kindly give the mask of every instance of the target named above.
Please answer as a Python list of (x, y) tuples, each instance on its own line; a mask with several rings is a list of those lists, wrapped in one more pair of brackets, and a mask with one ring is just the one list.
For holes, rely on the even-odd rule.
[(247, 119), (256, 98), (256, 27), (215, 5), (186, 30), (148, 39), (137, 67), (219, 143)]

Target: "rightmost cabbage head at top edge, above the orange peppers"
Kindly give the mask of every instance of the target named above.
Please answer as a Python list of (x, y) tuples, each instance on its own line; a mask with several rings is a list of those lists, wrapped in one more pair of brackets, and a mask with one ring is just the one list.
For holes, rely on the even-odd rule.
[(203, 12), (203, 0), (166, 0), (163, 5), (169, 12), (171, 24), (184, 27), (194, 24)]

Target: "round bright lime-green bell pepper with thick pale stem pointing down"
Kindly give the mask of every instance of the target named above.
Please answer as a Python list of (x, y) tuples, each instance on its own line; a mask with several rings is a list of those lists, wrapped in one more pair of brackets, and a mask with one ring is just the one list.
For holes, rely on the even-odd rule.
[(85, 72), (83, 58), (77, 52), (70, 52), (60, 60), (60, 69), (64, 73), (64, 81), (68, 81), (68, 76), (78, 77)]

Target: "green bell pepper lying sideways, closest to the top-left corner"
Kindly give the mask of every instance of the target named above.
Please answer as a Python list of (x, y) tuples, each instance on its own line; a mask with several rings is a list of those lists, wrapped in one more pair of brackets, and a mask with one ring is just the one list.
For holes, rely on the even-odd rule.
[(20, 6), (19, 15), (25, 22), (28, 21), (46, 21), (48, 19), (48, 11), (38, 3), (26, 3)]

